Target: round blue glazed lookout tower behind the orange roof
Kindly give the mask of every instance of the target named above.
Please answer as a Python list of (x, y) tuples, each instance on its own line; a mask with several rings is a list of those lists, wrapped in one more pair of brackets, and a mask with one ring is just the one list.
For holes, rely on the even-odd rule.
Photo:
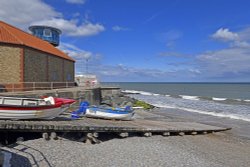
[(61, 30), (49, 26), (30, 26), (29, 30), (34, 36), (48, 41), (52, 45), (59, 45)]

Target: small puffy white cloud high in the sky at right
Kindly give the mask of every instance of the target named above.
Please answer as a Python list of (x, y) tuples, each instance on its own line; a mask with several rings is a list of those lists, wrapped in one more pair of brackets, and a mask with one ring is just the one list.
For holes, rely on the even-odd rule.
[(222, 41), (235, 41), (239, 39), (239, 35), (229, 31), (228, 28), (220, 28), (212, 35), (212, 38)]

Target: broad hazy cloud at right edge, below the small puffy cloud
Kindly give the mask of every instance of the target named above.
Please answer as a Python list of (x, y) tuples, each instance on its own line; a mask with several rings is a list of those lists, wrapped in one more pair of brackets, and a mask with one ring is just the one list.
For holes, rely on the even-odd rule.
[(198, 55), (197, 60), (199, 70), (209, 77), (223, 77), (231, 74), (230, 79), (233, 79), (250, 71), (249, 48), (227, 48), (206, 52)]

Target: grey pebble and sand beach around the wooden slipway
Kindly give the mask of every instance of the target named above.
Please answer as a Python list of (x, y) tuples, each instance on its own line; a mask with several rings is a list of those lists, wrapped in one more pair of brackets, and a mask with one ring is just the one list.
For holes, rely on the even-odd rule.
[[(20, 142), (3, 150), (11, 152), (12, 166), (249, 166), (248, 122), (214, 118), (178, 110), (138, 111), (137, 118), (192, 121), (221, 125), (232, 130), (208, 135), (149, 138), (111, 137), (100, 144), (67, 139)], [(213, 121), (212, 121), (213, 120)], [(234, 122), (234, 124), (233, 124)]]

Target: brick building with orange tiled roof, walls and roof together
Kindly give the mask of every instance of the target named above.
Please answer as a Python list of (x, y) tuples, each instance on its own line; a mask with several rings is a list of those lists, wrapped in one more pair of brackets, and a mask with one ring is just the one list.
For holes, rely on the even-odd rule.
[(49, 42), (0, 21), (0, 85), (7, 89), (74, 82), (74, 63)]

